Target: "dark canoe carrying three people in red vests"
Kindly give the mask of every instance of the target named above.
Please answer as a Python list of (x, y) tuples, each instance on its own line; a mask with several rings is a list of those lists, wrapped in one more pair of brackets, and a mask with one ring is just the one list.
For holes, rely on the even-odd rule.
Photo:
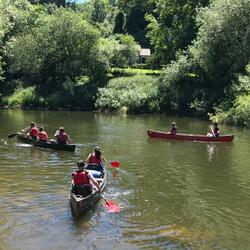
[(51, 148), (51, 149), (56, 149), (56, 150), (75, 151), (75, 147), (76, 147), (74, 144), (58, 144), (54, 141), (41, 142), (38, 140), (33, 140), (27, 137), (26, 134), (19, 133), (19, 132), (17, 133), (17, 139), (23, 143), (31, 144), (36, 147)]

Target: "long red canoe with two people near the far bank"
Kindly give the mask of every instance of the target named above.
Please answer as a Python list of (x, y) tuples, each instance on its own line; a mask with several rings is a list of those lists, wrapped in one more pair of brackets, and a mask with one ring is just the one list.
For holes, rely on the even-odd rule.
[(163, 138), (163, 139), (175, 139), (175, 140), (192, 140), (192, 141), (232, 141), (234, 139), (234, 135), (220, 135), (219, 137), (210, 137), (206, 135), (192, 135), (192, 134), (180, 134), (177, 133), (175, 135), (170, 134), (169, 132), (161, 132), (148, 130), (148, 136), (155, 138)]

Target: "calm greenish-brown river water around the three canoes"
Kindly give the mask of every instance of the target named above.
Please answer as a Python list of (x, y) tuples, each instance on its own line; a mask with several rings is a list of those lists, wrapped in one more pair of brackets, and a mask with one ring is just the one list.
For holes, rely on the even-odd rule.
[[(0, 110), (0, 249), (250, 249), (250, 130), (223, 126), (232, 143), (148, 138), (147, 129), (207, 133), (206, 121), (161, 115)], [(69, 132), (75, 152), (7, 139), (37, 122)], [(103, 200), (75, 218), (68, 194), (75, 163), (95, 145), (107, 166)]]

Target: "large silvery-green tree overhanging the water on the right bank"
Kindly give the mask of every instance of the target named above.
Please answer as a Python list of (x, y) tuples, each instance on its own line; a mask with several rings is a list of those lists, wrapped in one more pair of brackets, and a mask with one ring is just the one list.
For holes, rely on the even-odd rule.
[(204, 114), (225, 98), (233, 100), (227, 89), (250, 60), (249, 1), (215, 0), (197, 20), (197, 39), (160, 79), (164, 109)]

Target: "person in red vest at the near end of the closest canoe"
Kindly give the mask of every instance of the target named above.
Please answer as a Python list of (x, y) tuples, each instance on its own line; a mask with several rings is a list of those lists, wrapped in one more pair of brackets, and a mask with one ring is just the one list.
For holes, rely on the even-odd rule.
[(86, 197), (92, 193), (93, 185), (99, 192), (100, 186), (91, 173), (84, 170), (84, 166), (83, 161), (78, 161), (78, 171), (72, 173), (72, 193)]

